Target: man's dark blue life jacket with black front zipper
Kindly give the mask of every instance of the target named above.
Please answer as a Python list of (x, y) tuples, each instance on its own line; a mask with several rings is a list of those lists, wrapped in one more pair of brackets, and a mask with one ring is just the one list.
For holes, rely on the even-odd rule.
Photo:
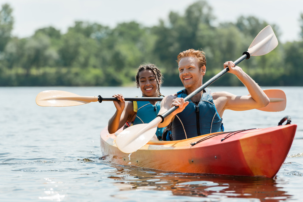
[[(187, 96), (185, 89), (179, 91), (177, 95), (178, 98)], [(175, 116), (171, 129), (173, 140), (183, 140), (221, 131), (224, 131), (222, 119), (208, 88), (205, 88), (198, 106), (189, 100), (185, 109)]]

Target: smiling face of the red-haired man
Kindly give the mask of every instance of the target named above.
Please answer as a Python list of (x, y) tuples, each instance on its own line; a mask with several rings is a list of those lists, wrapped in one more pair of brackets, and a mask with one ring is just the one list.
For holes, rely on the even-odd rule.
[(205, 66), (198, 66), (196, 57), (185, 57), (179, 61), (179, 77), (185, 88), (197, 89), (202, 85), (202, 76), (205, 75)]

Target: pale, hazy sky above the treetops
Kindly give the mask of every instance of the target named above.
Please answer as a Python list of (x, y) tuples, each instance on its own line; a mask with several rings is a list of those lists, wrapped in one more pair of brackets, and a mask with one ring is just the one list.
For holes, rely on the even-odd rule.
[[(35, 30), (53, 26), (65, 33), (75, 21), (96, 22), (111, 28), (136, 21), (145, 26), (167, 20), (171, 11), (183, 15), (197, 0), (0, 0), (13, 8), (13, 36), (30, 37)], [(217, 18), (215, 23), (236, 22), (241, 15), (255, 16), (269, 25), (278, 25), (280, 40), (300, 40), (300, 13), (303, 0), (207, 0)], [(261, 31), (261, 30), (260, 30)]]

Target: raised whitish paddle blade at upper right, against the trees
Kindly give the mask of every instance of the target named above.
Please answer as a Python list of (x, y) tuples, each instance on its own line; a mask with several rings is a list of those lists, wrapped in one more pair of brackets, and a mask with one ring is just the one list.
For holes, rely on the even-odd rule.
[(265, 55), (274, 50), (278, 45), (278, 39), (270, 25), (262, 29), (248, 48), (252, 56)]

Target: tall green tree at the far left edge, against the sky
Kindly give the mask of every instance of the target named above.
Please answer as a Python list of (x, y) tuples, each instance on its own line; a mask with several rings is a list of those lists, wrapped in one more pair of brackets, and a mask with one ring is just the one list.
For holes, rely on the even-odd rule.
[(11, 38), (13, 25), (12, 8), (8, 4), (4, 4), (0, 11), (0, 52), (4, 50), (5, 45)]

